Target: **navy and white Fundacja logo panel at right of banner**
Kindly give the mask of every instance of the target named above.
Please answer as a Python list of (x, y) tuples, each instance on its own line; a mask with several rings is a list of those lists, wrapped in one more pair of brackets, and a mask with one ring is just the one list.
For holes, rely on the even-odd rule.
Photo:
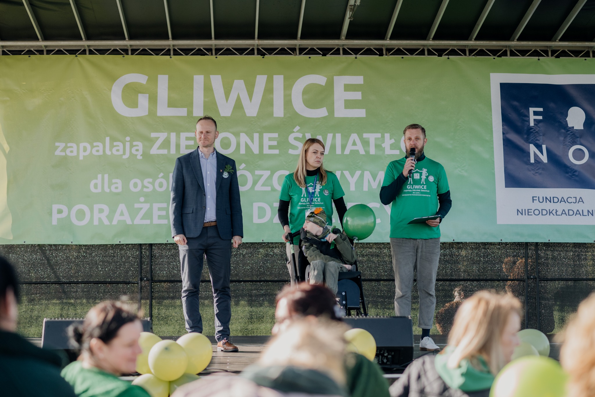
[(497, 223), (595, 225), (595, 74), (490, 79)]

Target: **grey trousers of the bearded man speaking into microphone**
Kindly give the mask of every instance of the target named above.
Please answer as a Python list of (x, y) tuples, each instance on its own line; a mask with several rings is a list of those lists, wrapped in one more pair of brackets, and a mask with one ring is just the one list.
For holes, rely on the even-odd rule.
[(411, 289), (417, 271), (418, 326), (431, 329), (436, 308), (436, 272), (440, 237), (436, 239), (390, 239), (394, 270), (394, 314), (411, 315)]

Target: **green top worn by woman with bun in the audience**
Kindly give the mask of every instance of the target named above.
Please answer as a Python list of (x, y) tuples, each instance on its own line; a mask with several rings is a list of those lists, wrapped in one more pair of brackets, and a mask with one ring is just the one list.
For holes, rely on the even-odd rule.
[(142, 387), (99, 368), (83, 368), (80, 361), (68, 364), (61, 375), (79, 397), (151, 397)]

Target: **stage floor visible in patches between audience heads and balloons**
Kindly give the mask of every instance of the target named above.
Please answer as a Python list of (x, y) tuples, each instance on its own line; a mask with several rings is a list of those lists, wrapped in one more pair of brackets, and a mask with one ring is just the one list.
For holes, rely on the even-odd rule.
[[(414, 335), (414, 359), (420, 355), (425, 354), (425, 351), (419, 351), (419, 335)], [(177, 336), (162, 336), (163, 339), (177, 339)], [(237, 374), (244, 370), (251, 364), (258, 361), (258, 357), (262, 350), (266, 347), (270, 336), (232, 336), (231, 342), (239, 349), (239, 352), (224, 353), (217, 351), (217, 345), (214, 336), (209, 336), (213, 343), (213, 358), (211, 364), (201, 373), (202, 376)], [(434, 342), (440, 347), (446, 346), (446, 335), (432, 335)], [(41, 338), (29, 338), (34, 345), (41, 346)], [(551, 340), (551, 339), (550, 339)], [(559, 343), (550, 342), (550, 357), (558, 360), (560, 352)], [(433, 354), (433, 353), (430, 353)], [(386, 374), (391, 383), (399, 377), (399, 374)]]

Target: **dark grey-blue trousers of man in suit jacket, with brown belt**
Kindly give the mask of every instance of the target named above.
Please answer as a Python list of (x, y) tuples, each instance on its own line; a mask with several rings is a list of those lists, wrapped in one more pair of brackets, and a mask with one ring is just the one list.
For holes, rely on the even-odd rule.
[(204, 227), (198, 237), (187, 237), (187, 245), (179, 245), (182, 276), (182, 308), (186, 330), (202, 333), (199, 310), (199, 288), (203, 258), (209, 268), (215, 306), (215, 338), (229, 338), (231, 320), (231, 240), (219, 236), (217, 226)]

